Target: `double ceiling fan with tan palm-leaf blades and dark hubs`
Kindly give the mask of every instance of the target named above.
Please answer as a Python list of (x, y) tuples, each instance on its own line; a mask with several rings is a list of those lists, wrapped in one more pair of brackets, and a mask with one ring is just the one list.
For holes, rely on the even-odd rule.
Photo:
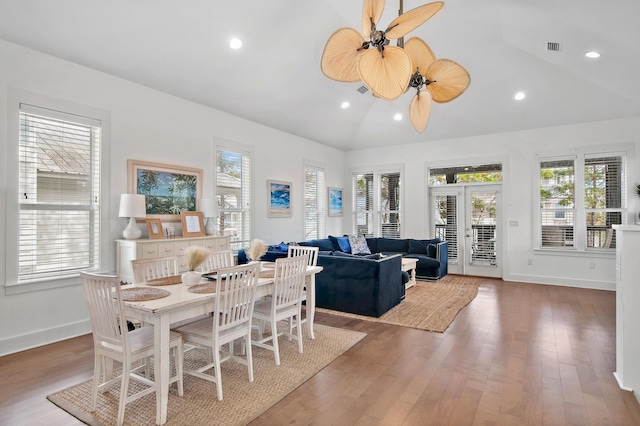
[[(460, 64), (436, 59), (423, 40), (412, 37), (404, 43), (404, 36), (438, 13), (443, 2), (427, 3), (402, 13), (400, 0), (399, 16), (380, 31), (376, 25), (384, 4), (384, 0), (364, 0), (362, 34), (353, 28), (334, 32), (322, 52), (320, 69), (332, 80), (362, 81), (373, 96), (387, 101), (415, 89), (409, 118), (413, 127), (422, 132), (429, 120), (431, 101), (454, 100), (469, 87), (471, 77)], [(395, 39), (398, 45), (390, 45), (390, 40)]]

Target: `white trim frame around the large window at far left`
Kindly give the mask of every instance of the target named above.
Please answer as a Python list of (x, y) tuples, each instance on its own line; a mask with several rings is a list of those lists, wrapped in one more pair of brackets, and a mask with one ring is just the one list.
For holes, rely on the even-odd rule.
[[(109, 236), (109, 146), (111, 145), (110, 123), (111, 117), (108, 111), (77, 104), (75, 102), (40, 95), (16, 88), (7, 90), (7, 198), (6, 198), (6, 269), (5, 269), (5, 294), (20, 294), (32, 291), (50, 290), (54, 288), (80, 285), (80, 275), (72, 274), (66, 277), (46, 278), (18, 282), (18, 250), (19, 246), (19, 209), (18, 206), (18, 181), (19, 181), (19, 139), (20, 132), (20, 104), (30, 104), (41, 108), (62, 111), (84, 117), (90, 117), (101, 122), (101, 178), (100, 178), (100, 270), (109, 270), (112, 256), (112, 241)], [(13, 159), (13, 160), (12, 160)]]

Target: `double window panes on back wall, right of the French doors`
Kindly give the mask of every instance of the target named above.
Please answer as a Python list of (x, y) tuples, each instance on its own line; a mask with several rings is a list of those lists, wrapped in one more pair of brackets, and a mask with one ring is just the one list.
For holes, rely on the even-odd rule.
[(540, 247), (612, 249), (622, 223), (625, 157), (580, 154), (540, 161)]

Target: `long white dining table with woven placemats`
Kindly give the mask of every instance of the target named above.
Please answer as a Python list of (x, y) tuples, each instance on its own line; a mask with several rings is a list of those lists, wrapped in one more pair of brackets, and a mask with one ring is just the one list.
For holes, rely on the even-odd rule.
[[(264, 270), (264, 268), (262, 269)], [(310, 338), (313, 334), (315, 316), (315, 274), (322, 271), (321, 266), (308, 266), (306, 276), (307, 288), (307, 329)], [(263, 297), (273, 292), (273, 278), (259, 278), (256, 297)], [(202, 283), (210, 281), (203, 278)], [(134, 283), (122, 286), (125, 288), (154, 287), (171, 292), (169, 296), (146, 301), (125, 302), (127, 317), (143, 321), (154, 327), (154, 358), (153, 367), (155, 380), (159, 383), (156, 392), (156, 424), (162, 425), (167, 421), (167, 404), (169, 400), (169, 378), (171, 358), (169, 354), (169, 335), (171, 325), (180, 321), (206, 315), (215, 309), (215, 293), (192, 293), (184, 284), (163, 286), (149, 286), (146, 283)], [(186, 390), (188, 391), (188, 390)]]

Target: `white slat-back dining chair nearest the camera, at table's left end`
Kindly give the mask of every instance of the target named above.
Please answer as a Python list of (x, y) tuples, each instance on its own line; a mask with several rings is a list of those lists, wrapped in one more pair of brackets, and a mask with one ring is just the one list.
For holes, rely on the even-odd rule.
[[(93, 384), (91, 387), (91, 411), (96, 410), (98, 391), (104, 392), (115, 382), (120, 381), (120, 399), (118, 403), (118, 425), (124, 422), (126, 405), (150, 393), (158, 392), (158, 383), (149, 376), (138, 373), (146, 367), (146, 362), (132, 368), (140, 360), (148, 360), (154, 351), (153, 327), (143, 327), (127, 331), (127, 321), (121, 312), (125, 306), (117, 276), (80, 273), (84, 289), (91, 329), (93, 331)], [(171, 333), (169, 347), (174, 356), (176, 374), (169, 383), (178, 383), (178, 394), (183, 395), (182, 336)], [(113, 361), (122, 364), (122, 374), (113, 377)], [(129, 380), (134, 379), (146, 385), (143, 390), (128, 395)]]

